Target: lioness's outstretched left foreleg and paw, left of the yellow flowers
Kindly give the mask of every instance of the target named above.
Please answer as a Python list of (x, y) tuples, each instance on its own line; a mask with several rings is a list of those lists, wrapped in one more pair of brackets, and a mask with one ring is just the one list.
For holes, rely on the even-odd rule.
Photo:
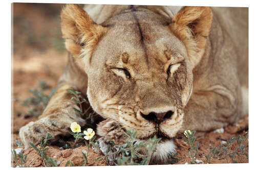
[(79, 108), (71, 100), (72, 94), (69, 93), (69, 89), (74, 87), (68, 83), (61, 83), (39, 119), (20, 128), (19, 136), (25, 149), (30, 147), (29, 142), (39, 143), (47, 133), (54, 137), (68, 135), (70, 124), (73, 122), (77, 122), (80, 126), (86, 124), (86, 121), (73, 109), (73, 107)]

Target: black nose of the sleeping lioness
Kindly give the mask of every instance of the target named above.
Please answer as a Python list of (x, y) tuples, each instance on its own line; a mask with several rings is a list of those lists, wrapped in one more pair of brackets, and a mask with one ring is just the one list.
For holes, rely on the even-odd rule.
[(174, 114), (174, 112), (172, 110), (169, 110), (164, 113), (150, 112), (150, 114), (147, 114), (147, 115), (144, 115), (143, 113), (141, 113), (141, 116), (151, 122), (155, 122), (155, 123), (159, 124), (164, 119), (170, 118), (173, 114)]

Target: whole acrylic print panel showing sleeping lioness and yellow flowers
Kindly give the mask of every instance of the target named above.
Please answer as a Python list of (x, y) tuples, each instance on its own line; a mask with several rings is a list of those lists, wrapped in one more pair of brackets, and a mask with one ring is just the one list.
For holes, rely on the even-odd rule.
[(248, 8), (14, 3), (12, 19), (13, 167), (248, 163)]

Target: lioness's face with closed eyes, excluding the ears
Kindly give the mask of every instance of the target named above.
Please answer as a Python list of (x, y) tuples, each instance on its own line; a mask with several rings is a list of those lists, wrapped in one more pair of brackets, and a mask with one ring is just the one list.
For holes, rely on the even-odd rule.
[(125, 13), (107, 24), (113, 27), (87, 71), (93, 109), (135, 129), (140, 139), (174, 137), (193, 81), (185, 46), (148, 11)]

